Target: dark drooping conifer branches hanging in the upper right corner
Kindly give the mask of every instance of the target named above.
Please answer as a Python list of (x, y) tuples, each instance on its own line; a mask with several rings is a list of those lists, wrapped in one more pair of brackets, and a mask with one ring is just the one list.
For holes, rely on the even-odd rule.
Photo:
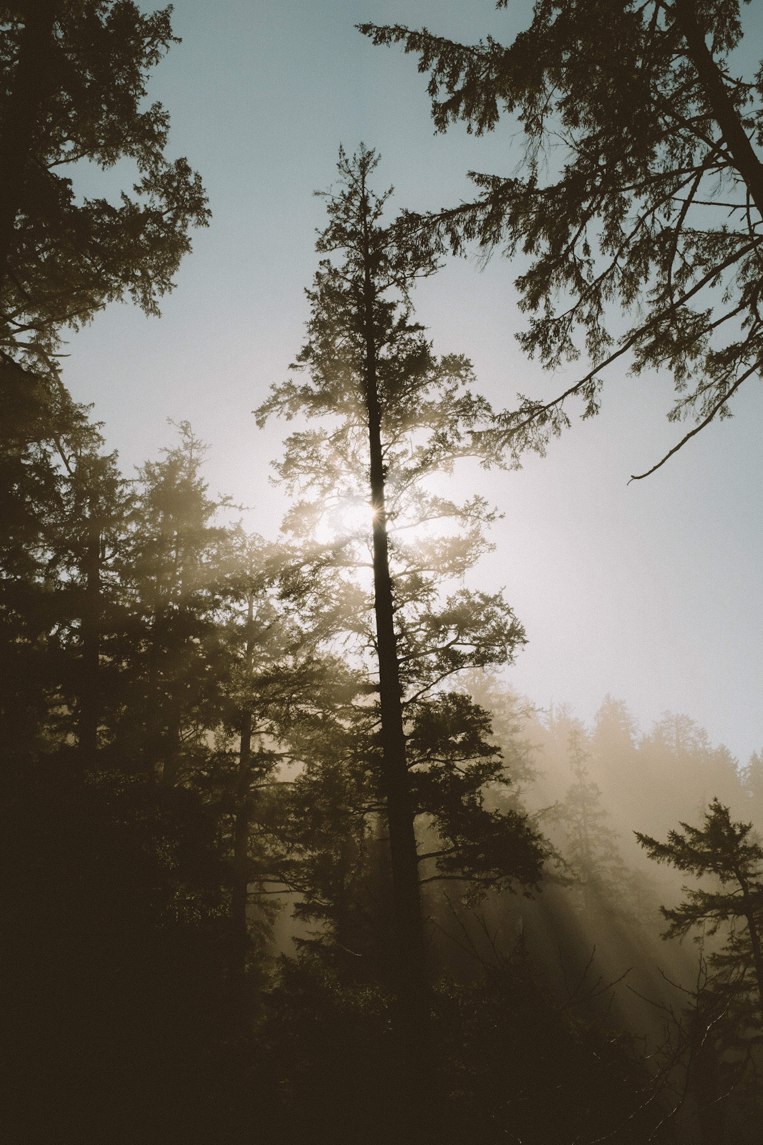
[[(583, 417), (596, 413), (602, 372), (625, 355), (636, 373), (667, 366), (669, 418), (698, 423), (650, 473), (730, 417), (763, 345), (762, 108), (756, 80), (730, 71), (739, 0), (539, 0), (508, 47), (359, 29), (419, 56), (438, 131), (461, 120), (483, 134), (501, 114), (524, 131), (512, 160), (522, 174), (471, 172), (474, 203), (411, 220), (456, 252), (475, 239), (486, 255), (502, 247), (531, 260), (516, 283), (532, 315), (519, 341), (547, 368), (579, 357), (585, 335), (582, 377), (549, 401), (519, 395), (500, 414), (507, 448), (542, 449), (569, 425), (573, 395)], [(623, 334), (614, 303), (633, 323)]]

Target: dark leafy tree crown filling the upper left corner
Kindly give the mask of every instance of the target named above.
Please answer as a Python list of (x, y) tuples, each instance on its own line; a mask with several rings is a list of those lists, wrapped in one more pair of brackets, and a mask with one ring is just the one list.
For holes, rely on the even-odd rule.
[[(59, 332), (116, 299), (146, 314), (173, 287), (205, 227), (207, 198), (185, 159), (165, 157), (169, 117), (141, 104), (148, 73), (176, 39), (165, 8), (133, 0), (27, 0), (0, 24), (0, 348), (55, 366)], [(77, 202), (62, 165), (135, 160), (121, 204)]]

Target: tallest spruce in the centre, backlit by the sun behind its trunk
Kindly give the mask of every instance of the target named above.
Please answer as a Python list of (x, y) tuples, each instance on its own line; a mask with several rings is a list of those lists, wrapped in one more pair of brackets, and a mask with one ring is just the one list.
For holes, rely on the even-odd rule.
[[(490, 547), (483, 529), (494, 514), (484, 498), (458, 505), (428, 482), (463, 457), (496, 460), (480, 437), (490, 406), (466, 388), (469, 362), (435, 357), (412, 321), (411, 290), (435, 273), (437, 259), (399, 223), (382, 223), (390, 192), (376, 196), (369, 187), (376, 164), (365, 148), (352, 159), (340, 151), (341, 182), (326, 196), (329, 224), (317, 244), (335, 259), (321, 260), (308, 291), (309, 340), (294, 365), (308, 380), (273, 387), (256, 413), (260, 424), (271, 413), (333, 423), (293, 434), (277, 466), (289, 491), (310, 493), (284, 522), (295, 539), (284, 591), (302, 600), (304, 623), (326, 640), (355, 637), (356, 653), (377, 672), (398, 1002), (413, 1051), (428, 1010), (413, 790), (423, 781), (412, 773), (405, 721), (424, 719), (426, 696), (442, 692), (453, 673), (506, 663), (525, 638), (500, 594), (461, 587), (442, 595), (443, 584), (462, 578)], [(447, 534), (447, 523), (455, 532)], [(368, 584), (355, 576), (364, 566), (373, 582), (372, 627)], [(446, 719), (447, 702), (437, 703)], [(469, 799), (461, 806), (467, 815)], [(526, 830), (523, 855), (535, 858), (532, 882), (540, 863), (534, 835), (520, 818), (515, 826), (519, 836)], [(456, 831), (455, 819), (451, 827)]]

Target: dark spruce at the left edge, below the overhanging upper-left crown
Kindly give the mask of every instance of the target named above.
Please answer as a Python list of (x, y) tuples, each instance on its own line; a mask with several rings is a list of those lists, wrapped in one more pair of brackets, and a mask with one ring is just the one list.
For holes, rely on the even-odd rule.
[(35, 751), (71, 737), (90, 766), (100, 722), (119, 705), (114, 640), (133, 496), (86, 408), (57, 382), (15, 365), (8, 373), (0, 442), (5, 745)]

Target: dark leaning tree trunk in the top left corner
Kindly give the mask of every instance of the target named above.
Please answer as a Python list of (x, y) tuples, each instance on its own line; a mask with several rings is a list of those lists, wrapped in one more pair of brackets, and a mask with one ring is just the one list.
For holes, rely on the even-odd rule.
[(51, 79), (50, 56), (56, 0), (26, 0), (14, 86), (0, 135), (0, 291), (23, 203), (24, 177), (40, 103)]

